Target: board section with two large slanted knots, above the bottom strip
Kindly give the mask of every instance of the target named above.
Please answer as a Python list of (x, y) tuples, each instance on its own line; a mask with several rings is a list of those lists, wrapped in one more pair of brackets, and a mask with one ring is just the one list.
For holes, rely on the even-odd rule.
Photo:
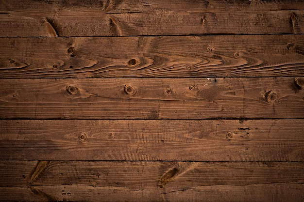
[(5, 173), (0, 186), (152, 189), (304, 183), (304, 162), (0, 161), (0, 171)]

